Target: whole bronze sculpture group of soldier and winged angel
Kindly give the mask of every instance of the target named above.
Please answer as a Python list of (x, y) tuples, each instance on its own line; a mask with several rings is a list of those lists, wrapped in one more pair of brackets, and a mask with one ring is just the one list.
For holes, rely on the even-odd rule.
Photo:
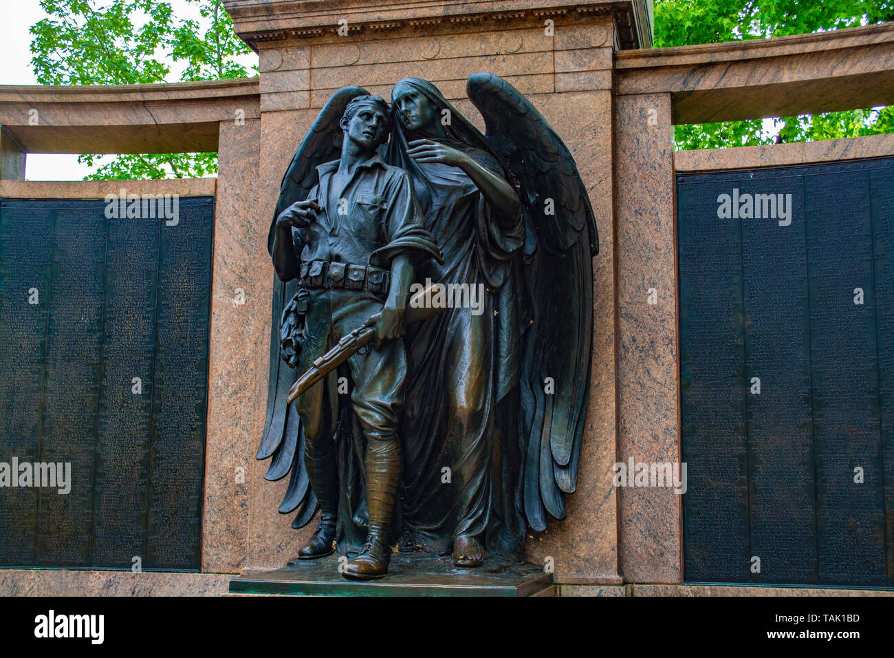
[[(286, 283), (274, 289), (257, 457), (273, 457), (267, 479), (291, 472), (280, 511), (298, 509), (294, 527), (321, 510), (299, 558), (335, 540), (348, 577), (384, 574), (392, 543), (452, 553), (458, 567), (487, 551), (520, 559), (527, 526), (565, 517), (576, 485), (593, 211), (527, 98), (490, 73), (469, 78), (468, 96), (486, 134), (424, 80), (398, 82), (387, 115), (365, 90), (337, 91), (292, 159), (271, 226)], [(440, 286), (426, 303), (447, 308), (408, 325), (411, 285)], [(290, 408), (296, 378), (375, 312), (375, 347)]]

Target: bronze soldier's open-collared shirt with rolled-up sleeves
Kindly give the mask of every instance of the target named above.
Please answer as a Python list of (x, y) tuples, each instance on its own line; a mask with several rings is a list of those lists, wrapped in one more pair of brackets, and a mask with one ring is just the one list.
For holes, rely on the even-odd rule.
[(423, 228), (405, 171), (386, 165), (375, 153), (355, 167), (339, 190), (333, 187), (338, 167), (339, 160), (316, 167), (318, 182), (308, 201), (316, 201), (320, 210), (307, 228), (292, 231), (302, 264), (330, 261), (387, 267), (394, 256), (405, 252), (415, 260), (440, 261), (440, 250)]

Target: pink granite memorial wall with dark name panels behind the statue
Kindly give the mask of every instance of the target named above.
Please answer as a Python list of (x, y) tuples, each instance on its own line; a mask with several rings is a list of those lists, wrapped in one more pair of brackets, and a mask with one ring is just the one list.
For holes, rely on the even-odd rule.
[[(527, 562), (552, 569), (541, 592), (890, 591), (894, 136), (673, 136), (890, 105), (894, 26), (651, 49), (645, 2), (442, 4), (350, 0), (340, 34), (319, 4), (232, 0), (259, 79), (0, 87), (4, 455), (72, 465), (66, 495), (0, 497), (0, 592), (76, 593), (83, 568), (95, 591), (224, 594), (297, 554), (315, 524), (291, 527), (289, 478), (255, 458), (283, 173), (344, 85), (388, 98), (419, 75), (485, 130), (479, 71), (567, 145), (600, 241), (576, 490), (526, 533)], [(106, 217), (117, 184), (10, 180), (26, 153), (88, 145), (216, 150), (219, 178), (128, 182), (178, 192), (177, 226)], [(631, 462), (687, 465), (686, 491), (619, 485)]]

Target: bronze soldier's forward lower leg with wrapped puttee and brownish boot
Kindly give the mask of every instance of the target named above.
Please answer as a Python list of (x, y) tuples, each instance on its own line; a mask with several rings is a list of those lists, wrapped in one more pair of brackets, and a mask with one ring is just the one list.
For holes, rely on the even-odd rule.
[(388, 573), (391, 561), (391, 530), (394, 503), (401, 483), (401, 444), (396, 437), (367, 443), (367, 508), (369, 534), (363, 549), (348, 560), (342, 571), (347, 578), (368, 580)]

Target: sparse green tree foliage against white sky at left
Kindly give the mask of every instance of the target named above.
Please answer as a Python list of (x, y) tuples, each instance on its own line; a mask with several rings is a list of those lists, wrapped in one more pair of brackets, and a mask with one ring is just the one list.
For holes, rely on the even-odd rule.
[[(48, 18), (31, 26), (31, 66), (41, 84), (168, 82), (171, 65), (185, 66), (180, 81), (243, 78), (236, 61), (249, 47), (236, 36), (223, 0), (198, 5), (209, 27), (178, 20), (160, 0), (40, 0)], [(257, 73), (257, 67), (254, 67)], [(96, 154), (79, 162), (97, 167)], [(195, 178), (217, 171), (216, 153), (120, 155), (87, 176), (93, 180)]]

